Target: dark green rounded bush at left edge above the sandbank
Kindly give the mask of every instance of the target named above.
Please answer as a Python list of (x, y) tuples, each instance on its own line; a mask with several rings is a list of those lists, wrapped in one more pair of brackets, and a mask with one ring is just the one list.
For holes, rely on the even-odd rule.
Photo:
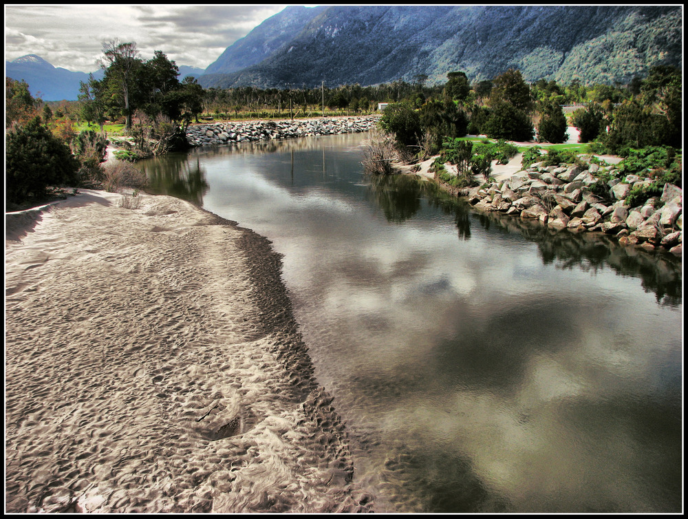
[(48, 186), (79, 184), (78, 160), (64, 142), (41, 125), (40, 118), (8, 132), (6, 146), (8, 202), (40, 198)]

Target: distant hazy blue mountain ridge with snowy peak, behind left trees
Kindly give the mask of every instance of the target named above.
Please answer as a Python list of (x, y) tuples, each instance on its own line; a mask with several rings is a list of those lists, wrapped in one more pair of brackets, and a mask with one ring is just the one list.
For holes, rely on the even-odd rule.
[[(6, 61), (5, 70), (8, 78), (26, 81), (30, 94), (44, 101), (74, 101), (78, 98), (80, 83), (89, 80), (87, 72), (72, 72), (54, 67), (36, 54), (27, 54), (13, 61)], [(179, 71), (180, 79), (183, 79), (184, 76), (200, 76), (203, 69), (182, 65)], [(103, 70), (93, 72), (96, 79), (102, 79), (104, 74)]]

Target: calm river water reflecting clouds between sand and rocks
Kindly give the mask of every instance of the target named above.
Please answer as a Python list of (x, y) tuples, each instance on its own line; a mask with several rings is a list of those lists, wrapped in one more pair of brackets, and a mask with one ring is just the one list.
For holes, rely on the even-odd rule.
[(680, 259), (366, 176), (365, 137), (140, 165), (283, 254), (376, 511), (681, 511)]

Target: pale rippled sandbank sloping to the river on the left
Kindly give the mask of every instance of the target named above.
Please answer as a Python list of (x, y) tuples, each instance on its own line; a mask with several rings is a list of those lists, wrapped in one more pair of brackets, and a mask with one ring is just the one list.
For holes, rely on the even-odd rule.
[(371, 506), (268, 240), (101, 191), (6, 231), (6, 511)]

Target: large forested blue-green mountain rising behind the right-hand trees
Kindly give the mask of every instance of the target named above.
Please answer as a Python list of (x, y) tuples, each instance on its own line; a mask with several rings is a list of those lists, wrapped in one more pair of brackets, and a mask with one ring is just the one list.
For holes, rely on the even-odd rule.
[[(654, 65), (682, 64), (681, 6), (323, 6), (305, 22), (303, 9), (261, 23), (222, 54), (233, 59), (221, 56), (199, 83), (365, 86), (424, 74), (436, 84), (453, 70), (480, 81), (513, 67), (526, 81), (610, 84)], [(277, 21), (283, 31), (270, 39)], [(261, 50), (251, 59), (246, 41)]]

